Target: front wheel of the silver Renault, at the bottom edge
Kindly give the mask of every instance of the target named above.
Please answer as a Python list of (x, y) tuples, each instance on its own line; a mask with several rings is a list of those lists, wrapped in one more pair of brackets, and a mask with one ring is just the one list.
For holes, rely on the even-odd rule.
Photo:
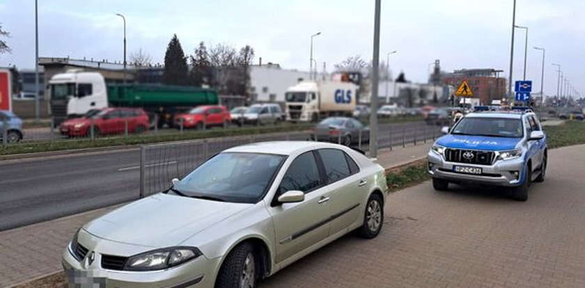
[[(254, 288), (258, 287), (258, 262), (250, 243), (242, 243), (233, 248), (221, 264), (215, 288)], [(251, 277), (251, 278), (250, 278)]]

